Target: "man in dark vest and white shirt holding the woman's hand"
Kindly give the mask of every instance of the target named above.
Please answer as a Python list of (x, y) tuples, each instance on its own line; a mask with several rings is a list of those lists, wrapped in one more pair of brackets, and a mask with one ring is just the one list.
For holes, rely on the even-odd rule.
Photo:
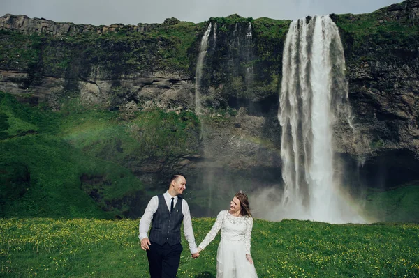
[[(193, 236), (191, 213), (186, 201), (178, 196), (186, 189), (186, 179), (182, 175), (170, 178), (166, 193), (154, 196), (145, 208), (140, 220), (141, 248), (146, 250), (150, 277), (174, 278), (179, 268), (182, 245), (180, 226), (184, 223), (184, 235), (189, 242), (193, 258), (198, 258), (195, 237)], [(147, 231), (150, 229), (149, 238)]]

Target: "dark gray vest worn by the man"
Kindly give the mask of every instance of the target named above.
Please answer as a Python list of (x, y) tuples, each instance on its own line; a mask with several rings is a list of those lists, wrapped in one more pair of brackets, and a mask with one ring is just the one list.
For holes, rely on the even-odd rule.
[(180, 226), (184, 217), (182, 198), (177, 196), (176, 205), (170, 213), (163, 194), (158, 195), (158, 197), (159, 206), (153, 215), (149, 240), (159, 245), (164, 245), (166, 242), (169, 245), (180, 243)]

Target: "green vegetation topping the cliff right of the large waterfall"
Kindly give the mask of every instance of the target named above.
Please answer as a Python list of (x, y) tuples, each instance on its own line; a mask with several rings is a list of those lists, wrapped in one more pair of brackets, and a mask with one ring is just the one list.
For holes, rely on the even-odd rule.
[[(418, 56), (419, 24), (409, 15), (404, 3), (360, 15), (332, 15), (344, 40), (346, 59), (382, 59), (375, 53), (391, 56)], [(390, 58), (390, 57), (388, 57)]]

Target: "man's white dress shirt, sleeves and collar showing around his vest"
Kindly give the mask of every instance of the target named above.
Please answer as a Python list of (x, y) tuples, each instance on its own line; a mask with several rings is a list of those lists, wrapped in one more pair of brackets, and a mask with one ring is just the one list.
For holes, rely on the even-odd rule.
[[(173, 206), (176, 206), (177, 203), (177, 196), (172, 196), (169, 194), (168, 191), (163, 194), (164, 200), (166, 201), (166, 205), (168, 206), (168, 210), (170, 210), (170, 203), (173, 200)], [(148, 203), (147, 208), (145, 208), (144, 215), (142, 215), (140, 219), (140, 235), (138, 238), (142, 240), (143, 238), (148, 238), (148, 230), (150, 228), (150, 224), (152, 223), (153, 215), (156, 213), (157, 208), (159, 208), (159, 197), (154, 196)], [(185, 199), (182, 201), (182, 214), (184, 215), (183, 224), (184, 224), (184, 235), (186, 240), (189, 242), (189, 249), (191, 250), (191, 254), (198, 252), (195, 243), (195, 236), (193, 235), (192, 229), (192, 220), (191, 220), (191, 213), (189, 212), (189, 206)]]

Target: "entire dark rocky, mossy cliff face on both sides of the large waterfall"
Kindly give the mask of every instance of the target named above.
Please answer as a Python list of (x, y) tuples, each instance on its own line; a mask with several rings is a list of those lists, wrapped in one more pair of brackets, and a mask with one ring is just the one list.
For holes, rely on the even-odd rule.
[[(335, 128), (348, 185), (419, 179), (418, 10), (414, 0), (371, 14), (331, 15), (345, 48), (354, 117), (354, 130)], [(203, 114), (196, 116), (196, 61), (210, 23), (199, 88)], [(277, 109), (289, 23), (231, 15), (200, 24), (172, 18), (91, 26), (5, 15), (0, 90), (57, 111), (77, 100), (118, 114), (124, 125), (133, 123), (130, 135), (82, 150), (130, 169), (149, 194), (164, 190), (171, 173), (186, 173), (186, 198), (198, 200), (191, 206), (212, 214), (198, 210), (208, 207), (212, 190), (228, 201), (236, 190), (281, 183)], [(132, 148), (132, 139), (145, 139), (147, 148)], [(219, 184), (212, 190), (211, 176)]]

